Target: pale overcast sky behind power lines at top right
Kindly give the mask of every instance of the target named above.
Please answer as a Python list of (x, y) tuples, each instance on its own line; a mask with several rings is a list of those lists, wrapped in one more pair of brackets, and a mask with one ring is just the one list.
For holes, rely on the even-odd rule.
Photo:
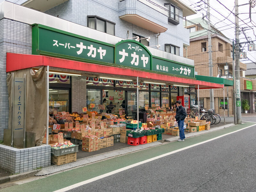
[[(207, 2), (207, 0), (203, 0), (205, 3), (201, 0), (181, 0), (181, 1), (190, 5), (190, 7), (194, 8), (195, 10), (199, 10), (199, 9), (205, 7), (203, 10), (197, 11), (196, 15), (188, 16), (187, 20), (202, 17), (203, 14), (206, 15), (207, 6), (205, 5), (205, 3)], [(234, 9), (234, 5), (235, 5), (234, 0), (224, 0), (224, 1), (219, 0), (219, 1), (222, 4), (224, 4), (229, 10), (232, 11)], [(199, 2), (199, 3), (197, 3), (197, 2)], [(249, 0), (238, 0), (238, 5), (242, 5), (242, 4), (246, 4), (246, 3), (249, 3)], [(198, 7), (196, 7), (196, 6), (198, 6)], [(232, 22), (231, 22), (231, 21), (235, 22), (235, 16), (232, 13), (229, 15), (230, 12), (216, 0), (210, 0), (210, 6), (212, 7), (212, 8), (210, 8), (210, 13), (211, 13), (210, 19), (211, 19), (212, 24), (215, 24), (215, 23), (223, 20), (222, 22), (217, 23), (214, 27), (219, 28), (219, 30), (228, 38), (235, 39), (235, 25), (232, 24)], [(223, 16), (220, 15), (220, 13), (216, 12), (215, 10), (220, 12), (225, 17), (227, 17), (229, 15), (228, 19), (231, 21), (229, 21), (228, 19), (225, 19)], [(241, 20), (243, 20), (245, 23), (249, 22), (248, 25), (254, 29), (254, 34), (256, 35), (256, 27), (255, 27), (256, 26), (256, 7), (252, 8), (252, 10), (251, 10), (252, 23), (250, 22), (250, 19), (248, 19), (249, 18), (249, 5), (239, 6), (238, 11), (239, 11), (238, 17)], [(235, 9), (232, 12), (235, 13)], [(240, 14), (240, 13), (245, 13), (245, 14)], [(248, 27), (248, 25), (245, 25), (244, 22), (241, 20), (239, 20), (239, 26), (240, 27)], [(229, 25), (229, 24), (231, 24), (231, 25), (220, 28), (222, 26)], [(224, 29), (226, 29), (226, 30), (224, 30)], [(245, 30), (244, 32), (247, 36), (252, 38), (252, 41), (256, 40), (256, 37), (254, 36), (252, 29)], [(246, 42), (246, 39), (244, 38), (244, 34), (240, 34), (239, 38), (240, 38), (240, 42)], [(254, 43), (256, 44), (256, 41)], [(245, 51), (247, 51), (248, 46), (246, 46), (244, 48), (245, 48)], [(255, 59), (256, 51), (247, 52), (247, 57), (255, 62), (256, 61), (256, 59)], [(251, 62), (251, 61), (243, 61), (243, 60), (241, 60), (241, 61), (244, 63)]]

